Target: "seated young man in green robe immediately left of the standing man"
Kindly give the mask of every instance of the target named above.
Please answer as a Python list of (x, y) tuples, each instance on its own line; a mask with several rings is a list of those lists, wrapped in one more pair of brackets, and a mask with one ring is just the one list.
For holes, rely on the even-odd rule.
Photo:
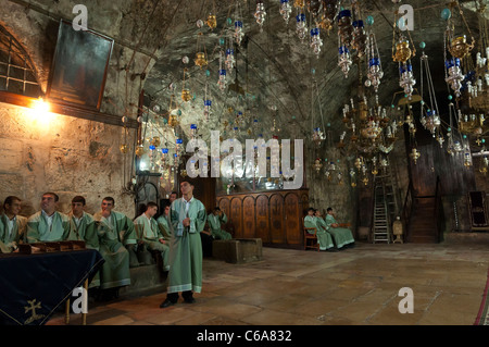
[(168, 256), (170, 248), (166, 244), (163, 234), (160, 232), (158, 222), (154, 215), (158, 212), (156, 202), (150, 201), (146, 206), (146, 211), (134, 221), (136, 235), (140, 246), (146, 246), (148, 250), (158, 250), (161, 252), (163, 259), (163, 271), (170, 270)]

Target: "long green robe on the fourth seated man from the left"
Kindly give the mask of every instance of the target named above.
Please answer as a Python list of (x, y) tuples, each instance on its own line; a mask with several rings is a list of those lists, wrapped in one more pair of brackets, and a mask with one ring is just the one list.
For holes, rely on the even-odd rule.
[(100, 272), (100, 288), (130, 284), (129, 252), (125, 245), (136, 245), (134, 223), (124, 213), (112, 211), (109, 219), (93, 214), (99, 235), (100, 253), (105, 262)]

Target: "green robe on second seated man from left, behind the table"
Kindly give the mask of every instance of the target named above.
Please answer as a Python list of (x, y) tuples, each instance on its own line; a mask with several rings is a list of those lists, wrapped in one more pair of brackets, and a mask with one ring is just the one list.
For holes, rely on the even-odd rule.
[(51, 243), (66, 240), (70, 236), (70, 219), (66, 214), (54, 212), (50, 218), (39, 211), (27, 220), (27, 241)]

